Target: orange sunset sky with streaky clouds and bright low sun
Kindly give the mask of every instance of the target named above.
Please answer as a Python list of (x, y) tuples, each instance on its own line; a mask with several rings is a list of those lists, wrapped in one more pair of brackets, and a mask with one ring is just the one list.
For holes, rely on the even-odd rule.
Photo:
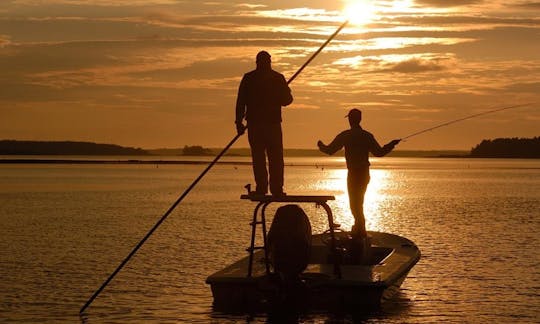
[[(266, 50), (292, 82), (286, 148), (348, 128), (400, 150), (540, 136), (540, 2), (2, 0), (0, 139), (224, 147), (239, 82)], [(234, 147), (248, 147), (243, 136)]]

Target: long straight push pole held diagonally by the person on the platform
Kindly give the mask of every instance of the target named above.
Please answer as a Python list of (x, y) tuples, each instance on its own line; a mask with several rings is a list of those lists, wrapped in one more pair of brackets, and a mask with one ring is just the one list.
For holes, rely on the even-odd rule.
[[(304, 70), (304, 68), (323, 50), (323, 48), (330, 43), (330, 41), (336, 37), (336, 35), (347, 25), (349, 21), (345, 21), (339, 28), (324, 42), (319, 49), (311, 55), (311, 57), (300, 67), (300, 69), (287, 81), (287, 84), (291, 83), (299, 74)], [(184, 191), (184, 193), (172, 204), (172, 206), (161, 216), (161, 218), (156, 222), (156, 224), (146, 233), (143, 239), (131, 250), (128, 256), (120, 263), (120, 265), (114, 270), (114, 272), (103, 282), (103, 284), (94, 292), (94, 294), (86, 301), (83, 307), (79, 310), (79, 315), (82, 314), (88, 306), (96, 299), (96, 297), (103, 291), (103, 289), (109, 284), (109, 282), (116, 276), (120, 270), (126, 265), (126, 263), (137, 253), (139, 248), (146, 242), (146, 240), (154, 233), (154, 231), (167, 219), (170, 213), (178, 206), (178, 204), (188, 195), (188, 193), (197, 185), (197, 183), (204, 177), (204, 175), (216, 164), (216, 162), (229, 150), (229, 148), (240, 138), (242, 134), (237, 134), (230, 142), (225, 146), (225, 148), (214, 158), (214, 160), (204, 169), (204, 171), (193, 181), (193, 183)]]

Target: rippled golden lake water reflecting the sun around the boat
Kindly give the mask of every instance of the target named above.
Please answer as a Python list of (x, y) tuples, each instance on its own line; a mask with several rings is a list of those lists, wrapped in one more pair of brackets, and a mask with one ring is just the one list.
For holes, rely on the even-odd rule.
[[(236, 158), (242, 160), (242, 158)], [(365, 323), (540, 322), (540, 161), (372, 160), (367, 227), (422, 251)], [(286, 161), (289, 193), (333, 194), (339, 158)], [(79, 309), (206, 165), (0, 164), (0, 322), (76, 323)], [(206, 277), (246, 255), (247, 165), (217, 165), (85, 312), (86, 323), (265, 323), (212, 310)], [(314, 231), (324, 211), (304, 206)], [(272, 215), (269, 208), (268, 215)], [(305, 314), (305, 323), (350, 323)]]

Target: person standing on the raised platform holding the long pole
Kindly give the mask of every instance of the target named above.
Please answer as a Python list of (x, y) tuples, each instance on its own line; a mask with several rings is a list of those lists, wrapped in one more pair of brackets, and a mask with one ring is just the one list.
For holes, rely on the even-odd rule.
[[(284, 195), (283, 192), (283, 136), (281, 107), (292, 103), (291, 89), (285, 77), (272, 70), (272, 60), (266, 51), (256, 57), (257, 68), (244, 74), (236, 100), (236, 130), (243, 134), (248, 129), (251, 147), (255, 193)], [(247, 127), (243, 119), (247, 121)], [(268, 171), (266, 156), (268, 155)]]

